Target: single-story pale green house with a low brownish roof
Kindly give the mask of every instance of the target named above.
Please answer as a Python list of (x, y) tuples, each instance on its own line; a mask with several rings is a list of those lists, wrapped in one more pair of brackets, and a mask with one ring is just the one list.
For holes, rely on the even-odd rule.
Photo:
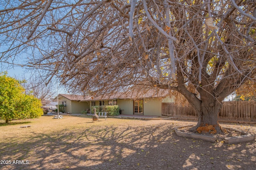
[(65, 112), (72, 114), (84, 111), (91, 113), (92, 106), (118, 105), (122, 114), (161, 116), (162, 103), (174, 102), (174, 98), (167, 96), (167, 94), (167, 90), (154, 93), (115, 93), (98, 97), (59, 94), (58, 100), (59, 104), (64, 105)]

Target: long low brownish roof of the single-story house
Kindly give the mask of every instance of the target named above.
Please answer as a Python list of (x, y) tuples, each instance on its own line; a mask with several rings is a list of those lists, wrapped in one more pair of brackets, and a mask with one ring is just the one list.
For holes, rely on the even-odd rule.
[[(130, 91), (130, 92), (117, 92), (112, 94), (104, 94), (102, 96), (83, 96), (73, 94), (59, 94), (71, 101), (96, 101), (96, 100), (116, 100), (116, 99), (138, 99), (138, 98), (163, 98), (168, 95), (168, 90), (148, 90), (148, 91)], [(57, 97), (56, 97), (57, 98)], [(56, 100), (55, 98), (55, 100)]]

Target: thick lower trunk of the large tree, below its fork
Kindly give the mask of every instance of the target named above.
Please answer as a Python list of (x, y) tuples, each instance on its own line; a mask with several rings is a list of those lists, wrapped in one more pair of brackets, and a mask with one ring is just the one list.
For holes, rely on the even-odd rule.
[(198, 123), (190, 131), (205, 134), (223, 134), (224, 130), (218, 123), (218, 113), (222, 103), (217, 100), (204, 99), (198, 112)]

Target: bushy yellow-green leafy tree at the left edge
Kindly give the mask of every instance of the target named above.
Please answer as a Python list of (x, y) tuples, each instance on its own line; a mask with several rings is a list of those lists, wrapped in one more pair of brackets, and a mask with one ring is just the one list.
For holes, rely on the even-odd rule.
[(0, 73), (0, 119), (8, 123), (43, 115), (40, 100), (24, 91), (18, 80), (7, 76), (7, 72)]

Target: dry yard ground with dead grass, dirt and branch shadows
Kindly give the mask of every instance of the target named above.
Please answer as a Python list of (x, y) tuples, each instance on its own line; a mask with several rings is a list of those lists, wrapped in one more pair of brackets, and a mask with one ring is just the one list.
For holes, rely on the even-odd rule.
[[(0, 121), (1, 170), (255, 170), (256, 141), (179, 137), (176, 120), (88, 117)], [(20, 128), (31, 125), (31, 127)], [(256, 125), (222, 124), (256, 135)]]

